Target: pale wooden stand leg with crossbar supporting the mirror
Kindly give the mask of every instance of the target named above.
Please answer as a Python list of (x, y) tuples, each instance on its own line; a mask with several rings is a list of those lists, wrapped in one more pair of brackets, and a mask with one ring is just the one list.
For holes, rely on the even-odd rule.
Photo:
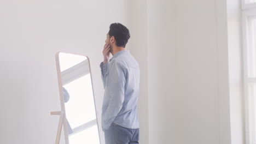
[[(63, 123), (63, 119), (65, 119), (65, 112), (63, 111), (51, 111), (50, 115), (60, 115), (60, 119), (59, 119), (59, 125), (58, 125), (58, 129), (57, 129), (57, 135), (56, 135), (56, 140), (55, 140), (55, 144), (59, 144), (60, 143), (60, 137), (61, 137), (61, 129), (62, 129), (62, 125), (65, 127), (65, 124)], [(66, 135), (66, 133), (64, 133)], [(66, 140), (65, 136), (65, 141), (66, 144), (68, 144), (68, 140)]]

